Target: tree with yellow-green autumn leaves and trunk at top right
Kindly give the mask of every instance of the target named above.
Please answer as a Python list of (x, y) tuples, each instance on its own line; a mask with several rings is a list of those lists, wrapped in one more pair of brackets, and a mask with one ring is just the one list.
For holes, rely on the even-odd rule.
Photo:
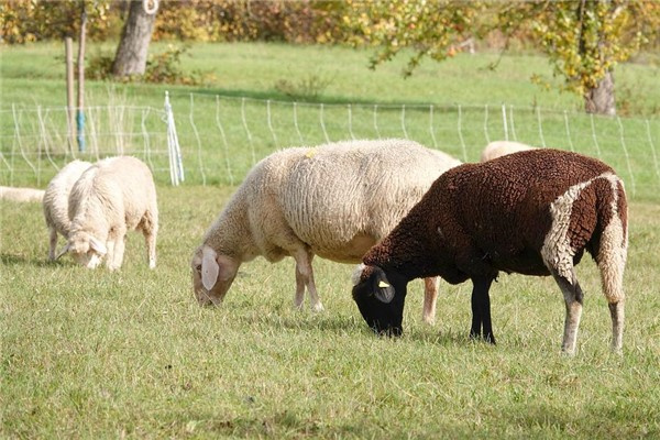
[(615, 114), (614, 68), (657, 43), (660, 3), (642, 0), (463, 2), (376, 0), (352, 3), (344, 18), (359, 42), (378, 45), (372, 67), (413, 48), (405, 75), (429, 56), (446, 59), (469, 36), (499, 31), (528, 35), (564, 88), (581, 95), (587, 112)]

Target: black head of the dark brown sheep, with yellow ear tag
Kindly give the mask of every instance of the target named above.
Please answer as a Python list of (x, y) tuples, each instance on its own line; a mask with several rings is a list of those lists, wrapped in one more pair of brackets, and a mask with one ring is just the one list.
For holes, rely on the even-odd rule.
[(366, 324), (378, 334), (399, 337), (404, 332), (404, 301), (407, 282), (396, 273), (364, 266), (353, 286), (353, 300)]

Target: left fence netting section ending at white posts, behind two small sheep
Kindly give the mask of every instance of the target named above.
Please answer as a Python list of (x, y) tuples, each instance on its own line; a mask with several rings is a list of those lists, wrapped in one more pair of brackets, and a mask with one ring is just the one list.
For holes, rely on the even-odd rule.
[(167, 182), (169, 127), (174, 124), (167, 123), (165, 110), (107, 106), (87, 107), (85, 114), (85, 147), (79, 148), (65, 107), (0, 110), (0, 185), (43, 188), (76, 158), (96, 162), (117, 155), (141, 158), (156, 179)]

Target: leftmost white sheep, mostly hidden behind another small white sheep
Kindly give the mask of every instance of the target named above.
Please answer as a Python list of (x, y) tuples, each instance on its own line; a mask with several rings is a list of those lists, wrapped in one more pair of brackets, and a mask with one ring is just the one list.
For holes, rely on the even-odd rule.
[(68, 217), (68, 196), (76, 180), (91, 164), (74, 161), (53, 177), (43, 197), (44, 218), (48, 227), (48, 258), (55, 260), (57, 233), (68, 239), (70, 220)]

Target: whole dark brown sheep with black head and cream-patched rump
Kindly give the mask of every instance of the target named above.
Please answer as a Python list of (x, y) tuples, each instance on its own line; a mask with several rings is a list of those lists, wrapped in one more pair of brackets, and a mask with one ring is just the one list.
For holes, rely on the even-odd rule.
[(586, 251), (601, 272), (618, 352), (627, 246), (626, 193), (609, 166), (559, 150), (525, 151), (441, 175), (364, 256), (353, 299), (375, 331), (400, 334), (409, 280), (471, 279), (470, 336), (495, 343), (488, 290), (498, 273), (552, 275), (566, 310), (562, 351), (572, 354), (583, 299), (574, 266)]

